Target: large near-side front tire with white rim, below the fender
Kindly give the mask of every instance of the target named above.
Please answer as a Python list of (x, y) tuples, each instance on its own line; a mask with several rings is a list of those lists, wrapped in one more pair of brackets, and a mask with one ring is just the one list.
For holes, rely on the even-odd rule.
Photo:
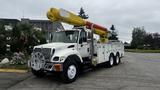
[(67, 60), (63, 65), (63, 72), (61, 73), (61, 79), (64, 83), (74, 82), (79, 74), (79, 68), (75, 61)]

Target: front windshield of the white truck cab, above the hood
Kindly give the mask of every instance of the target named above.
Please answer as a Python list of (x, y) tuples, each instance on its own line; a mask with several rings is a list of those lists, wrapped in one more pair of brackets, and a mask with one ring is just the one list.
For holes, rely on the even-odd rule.
[(77, 43), (78, 31), (54, 32), (52, 42)]

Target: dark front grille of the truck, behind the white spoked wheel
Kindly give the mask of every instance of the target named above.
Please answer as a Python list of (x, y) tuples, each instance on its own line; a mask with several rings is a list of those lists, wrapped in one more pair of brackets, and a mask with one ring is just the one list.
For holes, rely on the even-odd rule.
[(45, 59), (50, 59), (51, 49), (50, 48), (35, 48), (33, 53), (40, 52), (44, 55)]

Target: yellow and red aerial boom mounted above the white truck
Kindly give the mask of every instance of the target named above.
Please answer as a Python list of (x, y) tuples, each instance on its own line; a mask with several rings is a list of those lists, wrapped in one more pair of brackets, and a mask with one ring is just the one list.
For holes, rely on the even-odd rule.
[(87, 29), (93, 30), (93, 33), (100, 35), (101, 42), (108, 41), (108, 29), (92, 22), (86, 21), (76, 14), (64, 9), (51, 8), (47, 12), (47, 17), (51, 21), (60, 21), (74, 26), (86, 26)]

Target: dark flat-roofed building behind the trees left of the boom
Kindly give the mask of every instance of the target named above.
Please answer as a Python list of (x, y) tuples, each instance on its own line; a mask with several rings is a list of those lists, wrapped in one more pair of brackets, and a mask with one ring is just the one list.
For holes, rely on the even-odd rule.
[(21, 20), (18, 19), (0, 19), (0, 23), (3, 23), (6, 30), (10, 30), (13, 28), (13, 26), (17, 25), (17, 23), (28, 23), (33, 26), (34, 29), (45, 31), (46, 32), (46, 38), (49, 41), (50, 40), (50, 33), (57, 31), (58, 29), (63, 29), (63, 26), (60, 22), (50, 22), (49, 20), (32, 20), (28, 18), (22, 18)]

